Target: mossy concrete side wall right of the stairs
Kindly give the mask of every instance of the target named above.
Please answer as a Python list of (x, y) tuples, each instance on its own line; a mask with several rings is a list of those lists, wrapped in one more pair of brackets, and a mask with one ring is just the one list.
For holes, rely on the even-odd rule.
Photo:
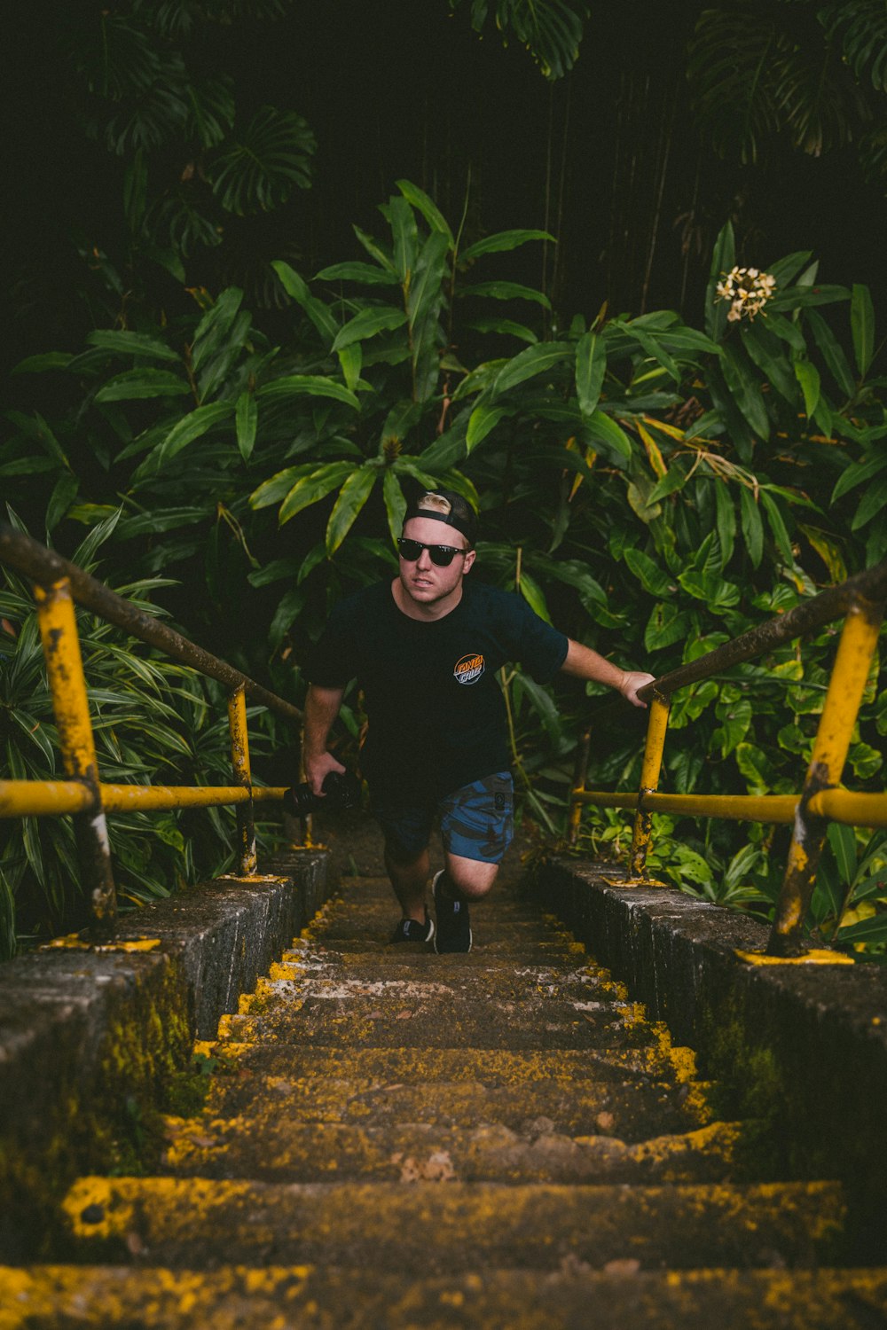
[(860, 1260), (887, 1252), (887, 967), (753, 966), (769, 928), (681, 891), (632, 887), (567, 857), (531, 891), (621, 979), (718, 1084), (721, 1116), (759, 1119), (762, 1148), (798, 1178), (840, 1178), (856, 1198)]

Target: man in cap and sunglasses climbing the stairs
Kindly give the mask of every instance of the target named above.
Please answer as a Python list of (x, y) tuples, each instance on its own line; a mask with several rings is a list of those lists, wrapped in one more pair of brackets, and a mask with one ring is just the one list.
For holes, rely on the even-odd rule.
[[(636, 706), (653, 674), (610, 665), (541, 620), (521, 596), (465, 581), (477, 520), (449, 491), (410, 504), (400, 572), (348, 596), (309, 662), (305, 770), (317, 794), (344, 767), (327, 750), (346, 684), (358, 678), (368, 717), (362, 751), (384, 863), (403, 918), (392, 942), (471, 950), (469, 902), (493, 884), (512, 838), (505, 708), (496, 672), (519, 660), (537, 682), (559, 670), (618, 689)], [(435, 817), (445, 867), (426, 904)]]

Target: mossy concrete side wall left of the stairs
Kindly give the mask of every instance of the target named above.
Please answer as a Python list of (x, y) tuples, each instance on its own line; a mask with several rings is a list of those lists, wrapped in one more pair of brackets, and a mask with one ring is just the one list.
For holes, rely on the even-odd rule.
[(326, 900), (327, 861), (293, 850), (124, 916), (110, 947), (63, 939), (0, 966), (0, 1261), (48, 1249), (77, 1174), (149, 1166), (158, 1112), (195, 1092), (194, 1040)]

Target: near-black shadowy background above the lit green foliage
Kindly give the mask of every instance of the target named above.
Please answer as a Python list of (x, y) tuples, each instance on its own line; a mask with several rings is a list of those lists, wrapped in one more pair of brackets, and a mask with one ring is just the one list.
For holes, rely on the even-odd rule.
[[(4, 13), (3, 287), (15, 321), (7, 363), (77, 344), (101, 322), (77, 283), (78, 234), (112, 259), (121, 245), (124, 162), (86, 141), (66, 33), (92, 3), (17, 3)], [(479, 37), (445, 0), (297, 4), (277, 23), (206, 28), (189, 69), (229, 70), (238, 108), (305, 116), (318, 140), (314, 185), (274, 213), (226, 222), (225, 253), (197, 250), (190, 285), (210, 291), (286, 257), (305, 275), (362, 257), (351, 225), (379, 231), (375, 207), (407, 177), (465, 241), (547, 227), (557, 246), (503, 257), (503, 274), (544, 287), (556, 322), (673, 307), (701, 322), (710, 246), (734, 221), (739, 262), (810, 249), (827, 282), (883, 290), (884, 200), (852, 145), (813, 158), (774, 144), (739, 168), (702, 144), (685, 48), (698, 0), (593, 5), (580, 60), (547, 82), (519, 44)], [(469, 180), (469, 185), (468, 185)], [(164, 283), (170, 286), (169, 295)], [(157, 273), (158, 291), (181, 293)]]

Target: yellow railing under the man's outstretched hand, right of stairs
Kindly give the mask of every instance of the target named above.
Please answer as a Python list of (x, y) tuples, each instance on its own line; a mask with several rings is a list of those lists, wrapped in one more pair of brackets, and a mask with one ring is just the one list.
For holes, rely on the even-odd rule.
[[(646, 745), (637, 794), (586, 790), (589, 734), (580, 746), (570, 794), (569, 839), (576, 842), (582, 805), (633, 809), (630, 871), (644, 882), (653, 813), (685, 817), (735, 818), (747, 822), (783, 822), (794, 826), (789, 864), (767, 944), (769, 956), (797, 956), (803, 951), (802, 926), (810, 906), (828, 821), (850, 826), (887, 827), (887, 794), (855, 794), (840, 787), (866, 680), (878, 645), (887, 600), (887, 560), (803, 601), (786, 614), (723, 642), (681, 669), (664, 674), (641, 690), (650, 702)], [(660, 794), (658, 781), (668, 733), (672, 694), (741, 661), (763, 656), (783, 642), (843, 617), (838, 654), (813, 746), (813, 757), (799, 794)]]

